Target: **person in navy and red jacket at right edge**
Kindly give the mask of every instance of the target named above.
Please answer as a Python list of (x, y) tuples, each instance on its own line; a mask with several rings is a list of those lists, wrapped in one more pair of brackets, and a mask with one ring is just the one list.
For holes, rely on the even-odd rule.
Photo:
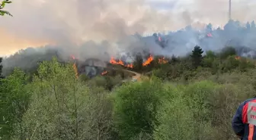
[(244, 101), (238, 106), (232, 119), (232, 129), (242, 140), (256, 140), (256, 98)]

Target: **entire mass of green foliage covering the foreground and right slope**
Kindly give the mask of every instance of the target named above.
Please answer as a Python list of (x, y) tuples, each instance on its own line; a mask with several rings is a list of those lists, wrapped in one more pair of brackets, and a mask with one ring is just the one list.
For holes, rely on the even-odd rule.
[[(155, 57), (157, 58), (157, 57)], [(158, 58), (162, 58), (159, 56)], [(238, 104), (255, 95), (255, 61), (197, 46), (184, 58), (152, 61), (122, 77), (75, 77), (72, 64), (43, 61), (33, 76), (15, 69), (1, 79), (2, 139), (232, 140)]]

